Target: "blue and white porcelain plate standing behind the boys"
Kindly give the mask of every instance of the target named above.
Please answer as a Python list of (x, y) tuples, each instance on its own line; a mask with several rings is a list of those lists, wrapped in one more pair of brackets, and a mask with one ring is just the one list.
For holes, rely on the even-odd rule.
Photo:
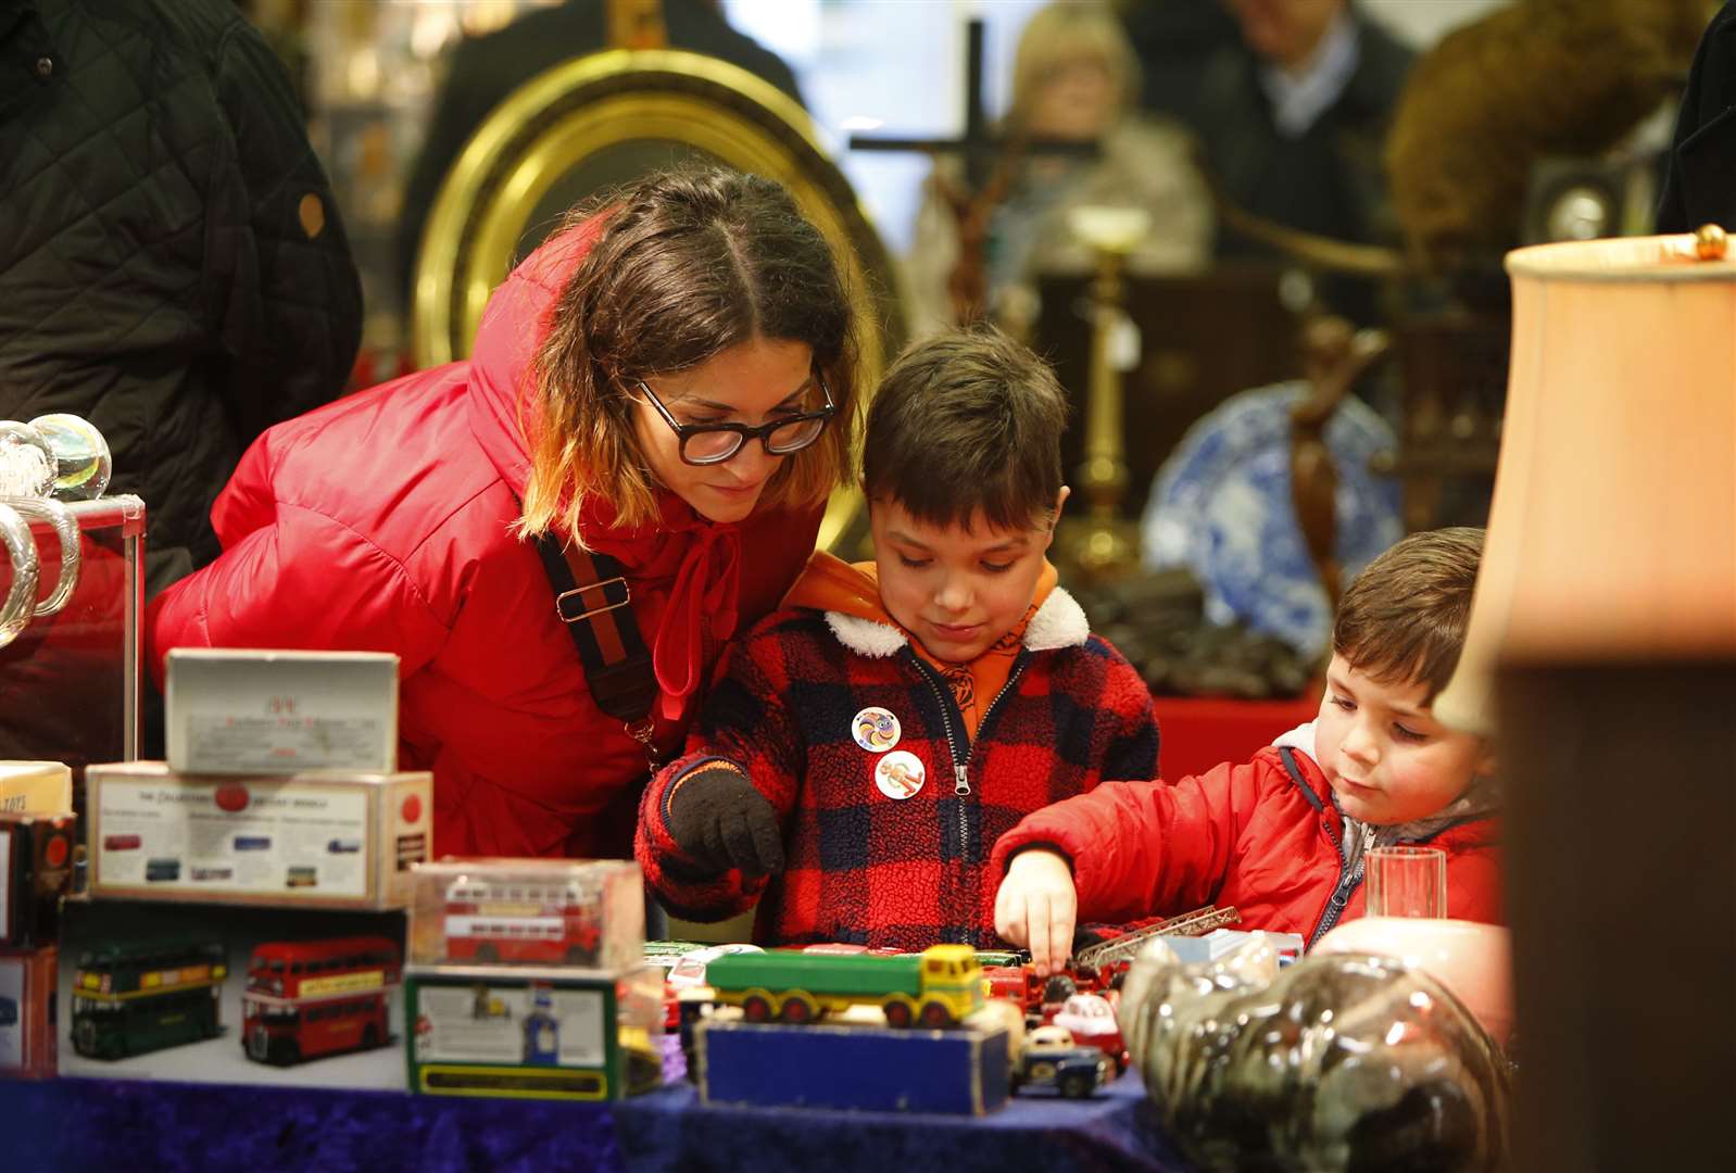
[[(1193, 571), (1210, 621), (1241, 621), (1312, 656), (1326, 651), (1332, 607), (1290, 496), (1290, 408), (1305, 392), (1302, 382), (1243, 390), (1187, 429), (1151, 486), (1141, 559), (1149, 569)], [(1337, 554), (1349, 583), (1404, 536), (1397, 481), (1368, 467), (1397, 439), (1345, 396), (1326, 423), (1326, 448), (1338, 465)]]

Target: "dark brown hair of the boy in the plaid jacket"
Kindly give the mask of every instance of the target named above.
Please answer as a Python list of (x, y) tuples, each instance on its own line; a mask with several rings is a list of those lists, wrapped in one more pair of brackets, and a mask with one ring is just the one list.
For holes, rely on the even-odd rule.
[(1047, 524), (1068, 397), (1043, 359), (993, 326), (906, 347), (868, 408), (863, 491), (930, 526), (977, 508), (996, 529)]

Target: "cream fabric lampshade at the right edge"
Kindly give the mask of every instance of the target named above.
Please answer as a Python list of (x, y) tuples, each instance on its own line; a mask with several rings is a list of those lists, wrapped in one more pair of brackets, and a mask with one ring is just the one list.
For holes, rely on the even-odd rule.
[(1694, 236), (1519, 248), (1495, 500), (1434, 713), (1493, 732), (1498, 663), (1736, 652), (1736, 262)]

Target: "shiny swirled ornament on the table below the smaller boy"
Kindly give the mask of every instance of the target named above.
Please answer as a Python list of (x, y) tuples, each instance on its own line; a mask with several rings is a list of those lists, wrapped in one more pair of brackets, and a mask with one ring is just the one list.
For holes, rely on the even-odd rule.
[(1200, 1168), (1502, 1168), (1509, 1064), (1403, 961), (1279, 970), (1255, 935), (1184, 965), (1158, 940), (1127, 975), (1120, 1019), (1168, 1137)]

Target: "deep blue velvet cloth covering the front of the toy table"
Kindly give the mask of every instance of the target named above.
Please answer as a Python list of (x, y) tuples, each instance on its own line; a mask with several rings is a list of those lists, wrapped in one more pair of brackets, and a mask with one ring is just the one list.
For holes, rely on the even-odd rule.
[(0, 1081), (7, 1170), (1182, 1170), (1132, 1074), (984, 1117), (458, 1100), (111, 1079)]

